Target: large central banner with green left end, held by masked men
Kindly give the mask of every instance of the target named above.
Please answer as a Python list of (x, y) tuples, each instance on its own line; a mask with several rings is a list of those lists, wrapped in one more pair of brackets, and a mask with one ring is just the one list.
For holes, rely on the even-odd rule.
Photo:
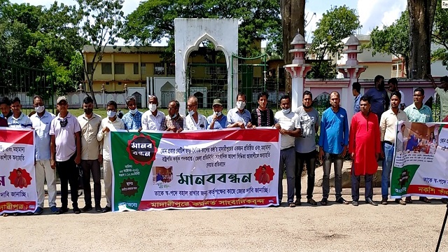
[(113, 211), (278, 204), (278, 130), (111, 132)]

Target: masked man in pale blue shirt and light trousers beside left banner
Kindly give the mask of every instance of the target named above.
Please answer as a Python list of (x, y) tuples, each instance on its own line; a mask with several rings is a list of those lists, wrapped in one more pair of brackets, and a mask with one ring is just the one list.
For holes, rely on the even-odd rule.
[(43, 201), (45, 200), (45, 180), (48, 188), (48, 205), (53, 214), (59, 209), (56, 207), (56, 170), (50, 164), (50, 124), (56, 117), (45, 110), (41, 96), (33, 99), (36, 113), (29, 119), (34, 128), (34, 166), (36, 171), (37, 208), (34, 214), (43, 213)]

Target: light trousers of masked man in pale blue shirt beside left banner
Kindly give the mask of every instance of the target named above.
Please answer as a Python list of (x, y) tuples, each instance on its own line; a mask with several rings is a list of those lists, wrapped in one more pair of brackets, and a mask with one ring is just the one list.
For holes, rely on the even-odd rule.
[(36, 170), (36, 188), (37, 205), (43, 208), (45, 200), (45, 189), (43, 185), (47, 181), (48, 205), (56, 207), (56, 169), (51, 169), (50, 160), (38, 160), (35, 165)]

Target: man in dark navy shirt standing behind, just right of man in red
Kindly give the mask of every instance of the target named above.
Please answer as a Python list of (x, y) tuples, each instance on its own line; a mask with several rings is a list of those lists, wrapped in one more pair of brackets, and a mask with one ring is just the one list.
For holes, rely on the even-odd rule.
[(374, 81), (375, 87), (367, 90), (367, 92), (365, 92), (365, 95), (370, 97), (371, 110), (377, 115), (379, 125), (381, 115), (384, 113), (384, 111), (388, 110), (390, 100), (387, 95), (387, 91), (384, 89), (384, 77), (377, 75)]

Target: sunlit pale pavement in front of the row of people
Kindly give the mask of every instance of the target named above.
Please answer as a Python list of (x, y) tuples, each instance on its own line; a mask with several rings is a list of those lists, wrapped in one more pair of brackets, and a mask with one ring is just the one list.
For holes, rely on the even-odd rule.
[[(350, 190), (343, 193), (350, 200)], [(379, 188), (374, 193), (381, 200)], [(439, 200), (60, 216), (45, 208), (41, 216), (0, 218), (0, 251), (435, 251), (446, 210)], [(448, 251), (448, 233), (441, 248)]]

